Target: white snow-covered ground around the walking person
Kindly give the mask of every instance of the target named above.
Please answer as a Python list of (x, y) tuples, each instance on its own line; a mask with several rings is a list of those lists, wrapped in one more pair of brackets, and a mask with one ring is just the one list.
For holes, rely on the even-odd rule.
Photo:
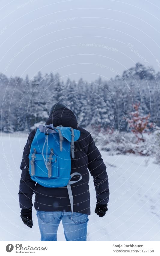
[[(18, 201), (19, 169), (26, 135), (3, 135), (1, 141), (0, 240), (39, 241), (36, 212), (32, 229), (20, 218)], [(110, 185), (108, 211), (103, 218), (95, 213), (95, 190), (90, 179), (91, 216), (88, 241), (159, 241), (160, 240), (160, 166), (143, 156), (101, 152), (107, 165)], [(65, 241), (63, 227), (58, 240)]]

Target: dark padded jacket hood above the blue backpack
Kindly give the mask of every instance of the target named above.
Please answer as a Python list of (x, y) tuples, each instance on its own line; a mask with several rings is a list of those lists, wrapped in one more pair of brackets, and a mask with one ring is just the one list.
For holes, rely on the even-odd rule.
[(60, 108), (52, 112), (46, 121), (46, 125), (53, 124), (54, 127), (62, 125), (64, 127), (72, 127), (77, 129), (77, 118), (68, 108)]

